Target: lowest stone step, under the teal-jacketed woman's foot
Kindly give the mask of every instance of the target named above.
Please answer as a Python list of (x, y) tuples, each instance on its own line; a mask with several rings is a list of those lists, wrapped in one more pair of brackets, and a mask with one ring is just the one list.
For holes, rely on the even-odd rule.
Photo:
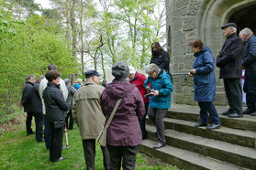
[(201, 170), (239, 170), (245, 169), (237, 165), (229, 165), (213, 158), (206, 157), (202, 154), (195, 154), (180, 148), (166, 145), (160, 149), (153, 149), (155, 144), (152, 140), (143, 140), (139, 145), (139, 152), (149, 154), (160, 158), (162, 161), (168, 162), (172, 165), (177, 165), (184, 169)]

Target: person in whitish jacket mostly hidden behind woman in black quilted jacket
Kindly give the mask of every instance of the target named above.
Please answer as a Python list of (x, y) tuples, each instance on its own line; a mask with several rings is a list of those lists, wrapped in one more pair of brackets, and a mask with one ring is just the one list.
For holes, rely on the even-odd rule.
[[(48, 70), (57, 70), (57, 66), (54, 64), (50, 64), (48, 66)], [(44, 115), (44, 141), (45, 141), (45, 146), (47, 149), (50, 148), (50, 125), (46, 120), (45, 114), (45, 104), (44, 104), (44, 100), (42, 98), (42, 94), (43, 94), (43, 90), (47, 87), (48, 84), (48, 80), (46, 78), (44, 78), (43, 80), (41, 80), (40, 85), (39, 85), (39, 95), (42, 101), (42, 112)], [(68, 98), (68, 90), (66, 88), (66, 84), (64, 82), (64, 80), (60, 79), (60, 88), (62, 91), (62, 94), (64, 96), (64, 100), (67, 101)]]

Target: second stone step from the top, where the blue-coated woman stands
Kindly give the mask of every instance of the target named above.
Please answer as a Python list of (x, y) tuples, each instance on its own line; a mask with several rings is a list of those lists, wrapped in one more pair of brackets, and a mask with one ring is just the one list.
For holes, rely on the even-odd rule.
[[(241, 146), (256, 148), (256, 133), (244, 130), (231, 129), (221, 126), (220, 129), (207, 130), (206, 127), (195, 128), (195, 122), (164, 118), (165, 129), (178, 131), (181, 133), (189, 133), (197, 136), (216, 139), (219, 141), (234, 143)], [(147, 118), (147, 124), (153, 123)]]

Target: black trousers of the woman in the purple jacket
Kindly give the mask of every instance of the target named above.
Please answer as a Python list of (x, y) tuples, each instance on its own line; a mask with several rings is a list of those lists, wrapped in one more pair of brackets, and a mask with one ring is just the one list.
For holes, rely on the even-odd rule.
[(119, 170), (121, 164), (123, 170), (133, 170), (136, 164), (137, 146), (112, 146), (107, 145), (110, 154), (110, 169)]

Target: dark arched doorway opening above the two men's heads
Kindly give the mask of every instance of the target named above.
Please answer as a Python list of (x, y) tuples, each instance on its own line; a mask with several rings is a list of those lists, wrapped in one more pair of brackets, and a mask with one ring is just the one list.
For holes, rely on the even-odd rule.
[(235, 12), (228, 22), (238, 25), (238, 33), (241, 29), (249, 27), (254, 35), (256, 35), (256, 5), (250, 5)]

